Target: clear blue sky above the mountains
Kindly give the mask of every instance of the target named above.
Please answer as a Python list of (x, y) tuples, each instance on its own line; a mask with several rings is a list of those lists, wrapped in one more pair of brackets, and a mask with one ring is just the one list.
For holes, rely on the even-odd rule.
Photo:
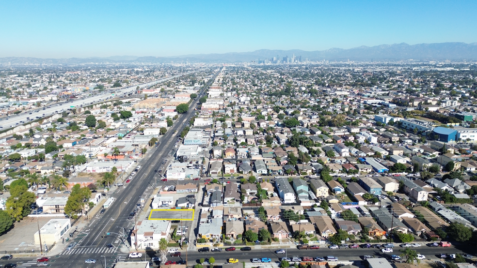
[(474, 43), (476, 11), (475, 0), (2, 0), (0, 57)]

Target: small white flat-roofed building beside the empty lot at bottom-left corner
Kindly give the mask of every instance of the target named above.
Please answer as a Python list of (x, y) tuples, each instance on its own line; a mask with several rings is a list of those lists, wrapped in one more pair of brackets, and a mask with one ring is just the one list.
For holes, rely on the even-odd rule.
[(49, 220), (47, 224), (41, 227), (39, 232), (36, 232), (34, 235), (35, 244), (40, 244), (40, 235), (41, 242), (43, 244), (52, 245), (53, 243), (60, 242), (60, 239), (71, 227), (69, 219), (54, 219)]

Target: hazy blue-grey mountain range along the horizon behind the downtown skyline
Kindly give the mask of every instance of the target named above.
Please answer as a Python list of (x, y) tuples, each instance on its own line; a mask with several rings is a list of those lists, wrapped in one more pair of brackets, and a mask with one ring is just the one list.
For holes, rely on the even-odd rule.
[(331, 48), (320, 51), (270, 50), (260, 49), (252, 52), (230, 52), (222, 54), (191, 54), (174, 57), (137, 57), (112, 56), (107, 58), (70, 58), (70, 59), (40, 59), (24, 57), (0, 58), (0, 64), (89, 64), (89, 63), (170, 63), (174, 62), (250, 62), (257, 60), (277, 59), (283, 57), (302, 57), (302, 60), (312, 61), (398, 61), (398, 60), (477, 60), (477, 43), (434, 43), (408, 45), (405, 43), (393, 45), (359, 46), (350, 49)]

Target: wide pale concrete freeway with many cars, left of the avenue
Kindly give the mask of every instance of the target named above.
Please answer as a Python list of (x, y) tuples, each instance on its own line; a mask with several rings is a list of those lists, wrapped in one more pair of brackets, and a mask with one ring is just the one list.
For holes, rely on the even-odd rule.
[[(63, 111), (67, 111), (70, 106), (75, 106), (75, 108), (79, 108), (82, 106), (88, 106), (91, 104), (98, 104), (101, 103), (108, 98), (114, 98), (115, 96), (126, 96), (129, 93), (132, 93), (136, 90), (136, 88), (139, 86), (140, 89), (145, 89), (150, 86), (163, 83), (165, 81), (175, 79), (177, 77), (183, 76), (183, 75), (188, 75), (195, 73), (197, 71), (191, 71), (187, 72), (184, 74), (177, 74), (171, 77), (159, 79), (159, 80), (154, 80), (151, 82), (147, 82), (144, 84), (140, 85), (134, 85), (134, 86), (129, 86), (129, 87), (124, 87), (124, 88), (117, 88), (117, 89), (107, 89), (100, 94), (96, 94), (93, 96), (88, 96), (80, 99), (74, 99), (74, 100), (68, 100), (66, 102), (59, 102), (59, 103), (54, 103), (54, 104), (49, 104), (46, 107), (43, 108), (37, 108), (37, 109), (31, 109), (27, 110), (25, 112), (19, 113), (18, 115), (11, 115), (4, 117), (0, 119), (0, 129), (7, 129), (11, 127), (16, 127), (21, 124), (25, 124), (29, 121), (33, 121), (35, 119), (40, 119), (43, 117), (47, 117), (50, 115), (62, 113)], [(114, 96), (112, 96), (114, 94)]]

